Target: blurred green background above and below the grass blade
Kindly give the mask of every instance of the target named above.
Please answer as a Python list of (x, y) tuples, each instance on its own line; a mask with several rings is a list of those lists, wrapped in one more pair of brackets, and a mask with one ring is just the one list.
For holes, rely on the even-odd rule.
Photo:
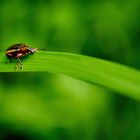
[[(140, 68), (139, 0), (1, 0), (0, 49), (14, 43)], [(47, 59), (47, 58), (46, 58)], [(0, 74), (0, 140), (138, 140), (140, 104), (53, 73)]]

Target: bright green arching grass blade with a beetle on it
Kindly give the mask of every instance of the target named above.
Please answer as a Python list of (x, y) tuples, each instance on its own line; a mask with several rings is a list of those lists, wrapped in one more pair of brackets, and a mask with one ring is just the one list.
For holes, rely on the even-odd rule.
[[(0, 52), (0, 72), (16, 72), (15, 63), (7, 61)], [(113, 62), (72, 53), (38, 51), (23, 60), (26, 71), (49, 71), (70, 75), (110, 88), (140, 100), (140, 72)]]

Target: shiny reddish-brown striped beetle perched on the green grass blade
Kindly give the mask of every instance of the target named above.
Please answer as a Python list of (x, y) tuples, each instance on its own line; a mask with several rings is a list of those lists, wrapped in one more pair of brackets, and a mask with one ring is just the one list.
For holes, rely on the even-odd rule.
[(16, 68), (23, 69), (23, 63), (21, 61), (21, 57), (34, 54), (38, 48), (31, 48), (30, 46), (20, 43), (20, 44), (13, 44), (7, 50), (5, 55), (8, 57), (10, 62), (12, 59), (17, 59), (18, 63), (16, 64)]

